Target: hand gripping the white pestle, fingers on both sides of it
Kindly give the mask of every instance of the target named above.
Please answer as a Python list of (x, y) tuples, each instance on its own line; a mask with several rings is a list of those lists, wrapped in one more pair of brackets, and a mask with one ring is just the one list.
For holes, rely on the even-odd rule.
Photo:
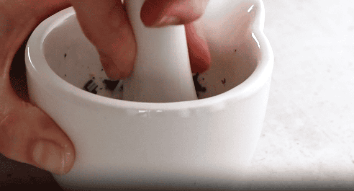
[[(86, 37), (97, 47), (107, 76), (113, 80), (128, 77), (135, 61), (136, 42), (125, 5), (120, 0), (70, 1)], [(211, 62), (202, 22), (196, 20), (204, 13), (208, 1), (146, 0), (141, 9), (145, 26), (185, 24), (194, 73), (206, 71)]]

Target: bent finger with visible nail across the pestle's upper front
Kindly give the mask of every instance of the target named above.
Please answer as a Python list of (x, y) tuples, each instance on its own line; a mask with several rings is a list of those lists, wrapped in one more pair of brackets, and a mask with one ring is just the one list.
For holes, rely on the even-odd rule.
[(146, 0), (141, 9), (145, 26), (187, 24), (201, 17), (209, 0)]

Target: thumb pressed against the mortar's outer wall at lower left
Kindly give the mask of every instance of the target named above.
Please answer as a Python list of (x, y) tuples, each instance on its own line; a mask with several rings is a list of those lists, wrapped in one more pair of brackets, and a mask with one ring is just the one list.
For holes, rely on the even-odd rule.
[(0, 152), (55, 174), (68, 173), (75, 160), (68, 136), (38, 107), (16, 95), (6, 97), (12, 99), (0, 103), (5, 106), (0, 108)]

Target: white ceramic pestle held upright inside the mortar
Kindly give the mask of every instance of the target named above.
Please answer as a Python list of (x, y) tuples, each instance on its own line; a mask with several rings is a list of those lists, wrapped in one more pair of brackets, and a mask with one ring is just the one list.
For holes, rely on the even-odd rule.
[(135, 66), (124, 80), (123, 100), (196, 100), (184, 25), (147, 28), (140, 18), (145, 0), (125, 0), (137, 43)]

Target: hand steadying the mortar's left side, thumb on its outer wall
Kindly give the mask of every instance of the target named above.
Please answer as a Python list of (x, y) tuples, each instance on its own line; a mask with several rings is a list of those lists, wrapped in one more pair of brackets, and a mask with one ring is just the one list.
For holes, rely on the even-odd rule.
[(0, 18), (13, 21), (0, 22), (0, 152), (56, 174), (72, 168), (74, 146), (47, 114), (17, 97), (9, 71), (16, 50), (31, 30), (42, 19), (68, 6), (64, 0), (0, 2)]

